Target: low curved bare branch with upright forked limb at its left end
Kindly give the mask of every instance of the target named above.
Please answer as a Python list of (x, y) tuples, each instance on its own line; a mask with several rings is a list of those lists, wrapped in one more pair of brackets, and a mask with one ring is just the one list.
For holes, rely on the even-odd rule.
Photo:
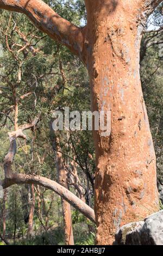
[(2, 186), (3, 189), (14, 184), (37, 184), (46, 187), (49, 190), (52, 190), (55, 193), (57, 193), (78, 211), (82, 212), (82, 214), (89, 218), (89, 220), (95, 222), (95, 213), (93, 209), (90, 208), (90, 206), (88, 206), (87, 204), (85, 204), (82, 200), (80, 200), (77, 196), (75, 196), (72, 192), (67, 190), (67, 188), (45, 177), (12, 172), (11, 166), (14, 160), (14, 156), (16, 154), (16, 138), (26, 139), (26, 135), (24, 135), (23, 131), (30, 129), (35, 125), (36, 121), (33, 121), (31, 124), (20, 126), (17, 131), (8, 133), (10, 140), (10, 148), (8, 154), (4, 158), (5, 179), (0, 180), (0, 186)]

